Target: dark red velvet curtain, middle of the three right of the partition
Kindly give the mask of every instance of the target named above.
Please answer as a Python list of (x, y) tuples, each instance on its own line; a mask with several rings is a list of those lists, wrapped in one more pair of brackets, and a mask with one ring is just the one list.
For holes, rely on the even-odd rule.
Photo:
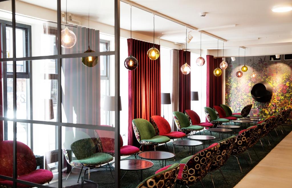
[[(191, 64), (191, 52), (179, 50), (178, 51), (179, 64), (181, 67), (186, 63)], [(185, 113), (185, 110), (191, 109), (191, 74), (179, 73), (179, 103), (178, 109), (180, 112)]]

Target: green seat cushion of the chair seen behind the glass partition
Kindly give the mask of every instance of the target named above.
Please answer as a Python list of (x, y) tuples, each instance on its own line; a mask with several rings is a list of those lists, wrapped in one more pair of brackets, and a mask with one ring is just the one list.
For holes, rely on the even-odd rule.
[(106, 164), (110, 161), (112, 161), (114, 158), (107, 153), (95, 153), (93, 155), (91, 155), (90, 157), (86, 157), (84, 159), (80, 159), (80, 160), (73, 160), (71, 161), (70, 164), (72, 164), (72, 166), (74, 166), (74, 163), (76, 164), (82, 164), (84, 166), (98, 166), (101, 164)]

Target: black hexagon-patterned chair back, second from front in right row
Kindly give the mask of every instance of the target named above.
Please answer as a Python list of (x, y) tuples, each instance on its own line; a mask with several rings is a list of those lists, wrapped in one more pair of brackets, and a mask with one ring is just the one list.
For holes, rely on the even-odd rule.
[(212, 166), (218, 148), (219, 144), (214, 143), (211, 147), (198, 152), (187, 161), (182, 173), (182, 181), (185, 185), (192, 185), (205, 177)]

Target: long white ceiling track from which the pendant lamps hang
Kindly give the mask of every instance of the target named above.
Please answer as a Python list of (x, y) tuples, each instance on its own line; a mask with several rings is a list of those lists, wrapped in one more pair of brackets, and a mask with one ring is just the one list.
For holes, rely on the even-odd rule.
[[(190, 29), (193, 29), (193, 30), (195, 30), (195, 31), (198, 31), (198, 28), (197, 28), (197, 27), (194, 27), (194, 26), (192, 26), (192, 25), (190, 25), (190, 24), (187, 24), (187, 23), (185, 23), (185, 22), (181, 22), (180, 20), (176, 20), (175, 18), (172, 18), (172, 17), (169, 17), (168, 15), (165, 15), (165, 14), (159, 13), (159, 12), (157, 12), (156, 10), (152, 10), (152, 9), (150, 9), (150, 8), (147, 8), (147, 7), (145, 7), (145, 6), (142, 6), (142, 5), (140, 5), (140, 4), (138, 4), (138, 3), (135, 3), (135, 2), (133, 2), (133, 1), (129, 1), (129, 0), (120, 0), (120, 1), (121, 1), (121, 2), (124, 2), (124, 3), (127, 3), (127, 4), (130, 4), (130, 5), (134, 6), (134, 7), (140, 8), (141, 10), (145, 10), (145, 11), (147, 11), (147, 12), (149, 12), (149, 13), (154, 14), (154, 15), (157, 15), (157, 16), (160, 16), (160, 17), (163, 17), (163, 18), (165, 18), (166, 20), (170, 20), (170, 21), (172, 21), (172, 22), (178, 23), (178, 24), (180, 24), (180, 25), (183, 25), (183, 26), (185, 26), (185, 27), (188, 27), (188, 28), (190, 28)], [(220, 40), (220, 41), (224, 41), (224, 42), (227, 41), (227, 40), (224, 39), (224, 38), (218, 37), (218, 36), (216, 36), (216, 35), (213, 35), (213, 34), (211, 34), (211, 33), (208, 33), (208, 32), (206, 32), (206, 31), (203, 31), (203, 30), (202, 30), (202, 31), (199, 31), (199, 32), (201, 32), (201, 33), (203, 33), (203, 34), (206, 34), (206, 35), (209, 35), (209, 36), (211, 36), (211, 37), (217, 38), (217, 39)]]

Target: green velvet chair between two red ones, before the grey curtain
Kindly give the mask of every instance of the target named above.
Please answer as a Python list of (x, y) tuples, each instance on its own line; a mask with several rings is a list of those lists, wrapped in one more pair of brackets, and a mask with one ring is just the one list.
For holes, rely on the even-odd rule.
[(175, 125), (179, 131), (182, 131), (182, 132), (196, 131), (197, 132), (204, 129), (204, 127), (199, 126), (199, 125), (190, 125), (190, 120), (184, 113), (173, 112), (172, 114), (173, 114), (173, 120), (175, 122)]

